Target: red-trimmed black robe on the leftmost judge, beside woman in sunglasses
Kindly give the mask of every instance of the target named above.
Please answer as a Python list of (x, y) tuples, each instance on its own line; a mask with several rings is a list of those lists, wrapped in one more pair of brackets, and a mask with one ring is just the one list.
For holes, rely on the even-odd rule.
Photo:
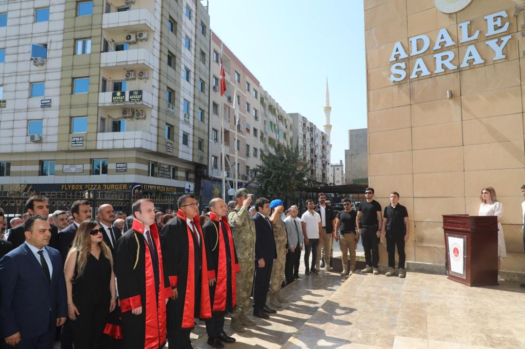
[[(134, 219), (130, 230), (117, 241), (114, 268), (122, 312), (122, 347), (158, 349), (166, 343), (166, 299), (172, 297), (164, 278), (159, 233), (155, 224), (150, 233), (158, 255), (158, 293), (155, 287), (154, 253), (144, 238), (144, 223)], [(142, 307), (142, 314), (131, 310)]]

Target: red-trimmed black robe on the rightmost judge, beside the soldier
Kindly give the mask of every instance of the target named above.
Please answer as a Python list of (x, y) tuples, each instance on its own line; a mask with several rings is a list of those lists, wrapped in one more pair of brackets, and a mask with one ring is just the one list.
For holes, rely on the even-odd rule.
[(231, 313), (237, 305), (237, 278), (240, 271), (232, 230), (226, 217), (211, 212), (204, 224), (204, 241), (208, 269), (213, 269), (216, 281), (209, 288), (214, 315)]

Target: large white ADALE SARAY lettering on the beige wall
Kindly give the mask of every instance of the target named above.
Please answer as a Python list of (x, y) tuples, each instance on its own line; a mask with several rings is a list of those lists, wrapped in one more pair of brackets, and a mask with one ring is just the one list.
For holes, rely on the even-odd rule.
[[(510, 25), (507, 19), (508, 17), (509, 16), (506, 10), (502, 10), (500, 12), (496, 12), (485, 16), (485, 23), (487, 25), (485, 37), (490, 37), (493, 35), (498, 35), (507, 32), (509, 30)], [(473, 28), (471, 28), (470, 20), (459, 23), (458, 26), (460, 32), (459, 37), (461, 37), (461, 39), (459, 40), (460, 44), (477, 40), (481, 34), (481, 31), (479, 29), (474, 30)], [(511, 35), (507, 35), (485, 41), (485, 45), (487, 45), (493, 52), (492, 57), (485, 57), (485, 59), (498, 61), (506, 58), (507, 56), (503, 53), (503, 49), (507, 46), (507, 43), (509, 42), (511, 37)], [(441, 28), (439, 30), (435, 42), (435, 45), (432, 47), (433, 52), (442, 50), (447, 47), (457, 46), (457, 43), (454, 42), (454, 40), (450, 37), (450, 34), (448, 33), (448, 30), (446, 28)], [(392, 74), (390, 75), (390, 80), (392, 82), (399, 82), (405, 80), (407, 75), (406, 69), (408, 65), (406, 59), (408, 57), (418, 56), (419, 54), (427, 53), (427, 51), (429, 51), (430, 49), (430, 38), (424, 34), (408, 38), (408, 43), (410, 48), (409, 54), (407, 53), (407, 50), (405, 50), (405, 48), (403, 47), (401, 41), (397, 41), (394, 44), (390, 60), (388, 60), (389, 62), (396, 62), (392, 64), (390, 69), (392, 72)], [(454, 50), (441, 51), (435, 53), (433, 56), (433, 59), (435, 61), (433, 66), (435, 66), (436, 69), (432, 73), (444, 73), (445, 68), (448, 71), (458, 69), (458, 67), (452, 63), (455, 56), (456, 54)], [(485, 59), (481, 58), (475, 45), (469, 45), (465, 50), (464, 56), (461, 57), (459, 60), (459, 62), (461, 62), (459, 64), (459, 68), (477, 66), (478, 64), (484, 63)], [(401, 60), (404, 61), (401, 62)], [(411, 66), (413, 66), (414, 68), (410, 73), (409, 79), (422, 78), (431, 74), (431, 72), (427, 68), (425, 61), (423, 60), (423, 57), (417, 58), (414, 61), (414, 63), (411, 63)]]

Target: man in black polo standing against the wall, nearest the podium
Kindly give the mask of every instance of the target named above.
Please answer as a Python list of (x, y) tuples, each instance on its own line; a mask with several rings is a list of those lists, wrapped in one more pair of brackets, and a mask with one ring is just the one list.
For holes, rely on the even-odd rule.
[[(405, 206), (398, 203), (399, 193), (390, 193), (390, 205), (385, 207), (383, 214), (382, 236), (386, 236), (386, 252), (388, 252), (388, 271), (386, 276), (395, 274), (395, 247), (399, 255), (399, 277), (405, 277), (405, 241), (408, 240), (408, 212)], [(386, 231), (386, 234), (385, 234)]]

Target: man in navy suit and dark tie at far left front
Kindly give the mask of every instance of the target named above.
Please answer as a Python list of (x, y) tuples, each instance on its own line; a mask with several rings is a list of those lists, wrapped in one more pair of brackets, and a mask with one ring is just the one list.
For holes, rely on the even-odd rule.
[(48, 247), (47, 216), (24, 224), (26, 241), (0, 260), (0, 329), (18, 348), (52, 348), (67, 315), (66, 280), (60, 254)]

